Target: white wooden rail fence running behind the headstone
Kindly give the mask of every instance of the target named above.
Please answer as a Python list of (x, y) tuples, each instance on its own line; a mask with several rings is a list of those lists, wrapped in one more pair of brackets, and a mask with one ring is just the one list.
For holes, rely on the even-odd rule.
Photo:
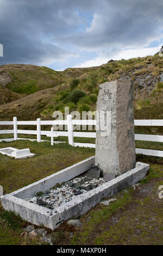
[[(163, 120), (134, 120), (135, 126), (163, 126)], [(73, 131), (73, 125), (96, 125), (96, 120), (72, 120), (72, 115), (67, 115), (67, 120), (43, 120), (37, 118), (36, 121), (17, 121), (17, 118), (14, 117), (13, 121), (0, 121), (0, 125), (13, 125), (13, 130), (0, 130), (1, 134), (13, 133), (14, 138), (10, 139), (0, 139), (1, 141), (13, 141), (18, 138), (18, 134), (28, 134), (36, 135), (37, 142), (41, 142), (41, 135), (46, 135), (51, 137), (51, 145), (55, 142), (54, 137), (66, 136), (68, 137), (68, 143), (75, 147), (90, 147), (96, 148), (96, 144), (91, 143), (74, 143), (74, 137), (83, 137), (83, 138), (96, 138), (96, 132), (75, 132)], [(17, 125), (36, 125), (36, 130), (18, 130)], [(51, 131), (42, 131), (41, 125), (67, 125), (67, 131), (54, 131), (53, 127)], [(135, 140), (138, 141), (152, 141), (152, 142), (163, 142), (163, 136), (160, 135), (142, 135), (135, 134)], [(159, 156), (163, 157), (163, 151), (161, 150), (149, 150), (149, 149), (136, 149), (136, 154), (143, 154), (149, 156)]]

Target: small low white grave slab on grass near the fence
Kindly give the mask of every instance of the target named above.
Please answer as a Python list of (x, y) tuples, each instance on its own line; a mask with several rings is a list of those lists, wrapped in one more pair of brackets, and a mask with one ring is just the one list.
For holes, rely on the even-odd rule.
[(29, 149), (15, 149), (11, 147), (0, 149), (0, 153), (3, 155), (15, 157), (15, 159), (24, 159), (27, 157), (33, 157), (35, 155), (30, 153)]

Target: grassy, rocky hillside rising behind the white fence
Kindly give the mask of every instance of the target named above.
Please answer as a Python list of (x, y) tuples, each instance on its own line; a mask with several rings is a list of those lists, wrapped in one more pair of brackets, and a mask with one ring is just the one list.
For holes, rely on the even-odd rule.
[(0, 120), (52, 119), (55, 110), (95, 110), (98, 85), (118, 78), (134, 81), (135, 119), (163, 119), (163, 58), (112, 61), (62, 72), (44, 66), (0, 66)]

